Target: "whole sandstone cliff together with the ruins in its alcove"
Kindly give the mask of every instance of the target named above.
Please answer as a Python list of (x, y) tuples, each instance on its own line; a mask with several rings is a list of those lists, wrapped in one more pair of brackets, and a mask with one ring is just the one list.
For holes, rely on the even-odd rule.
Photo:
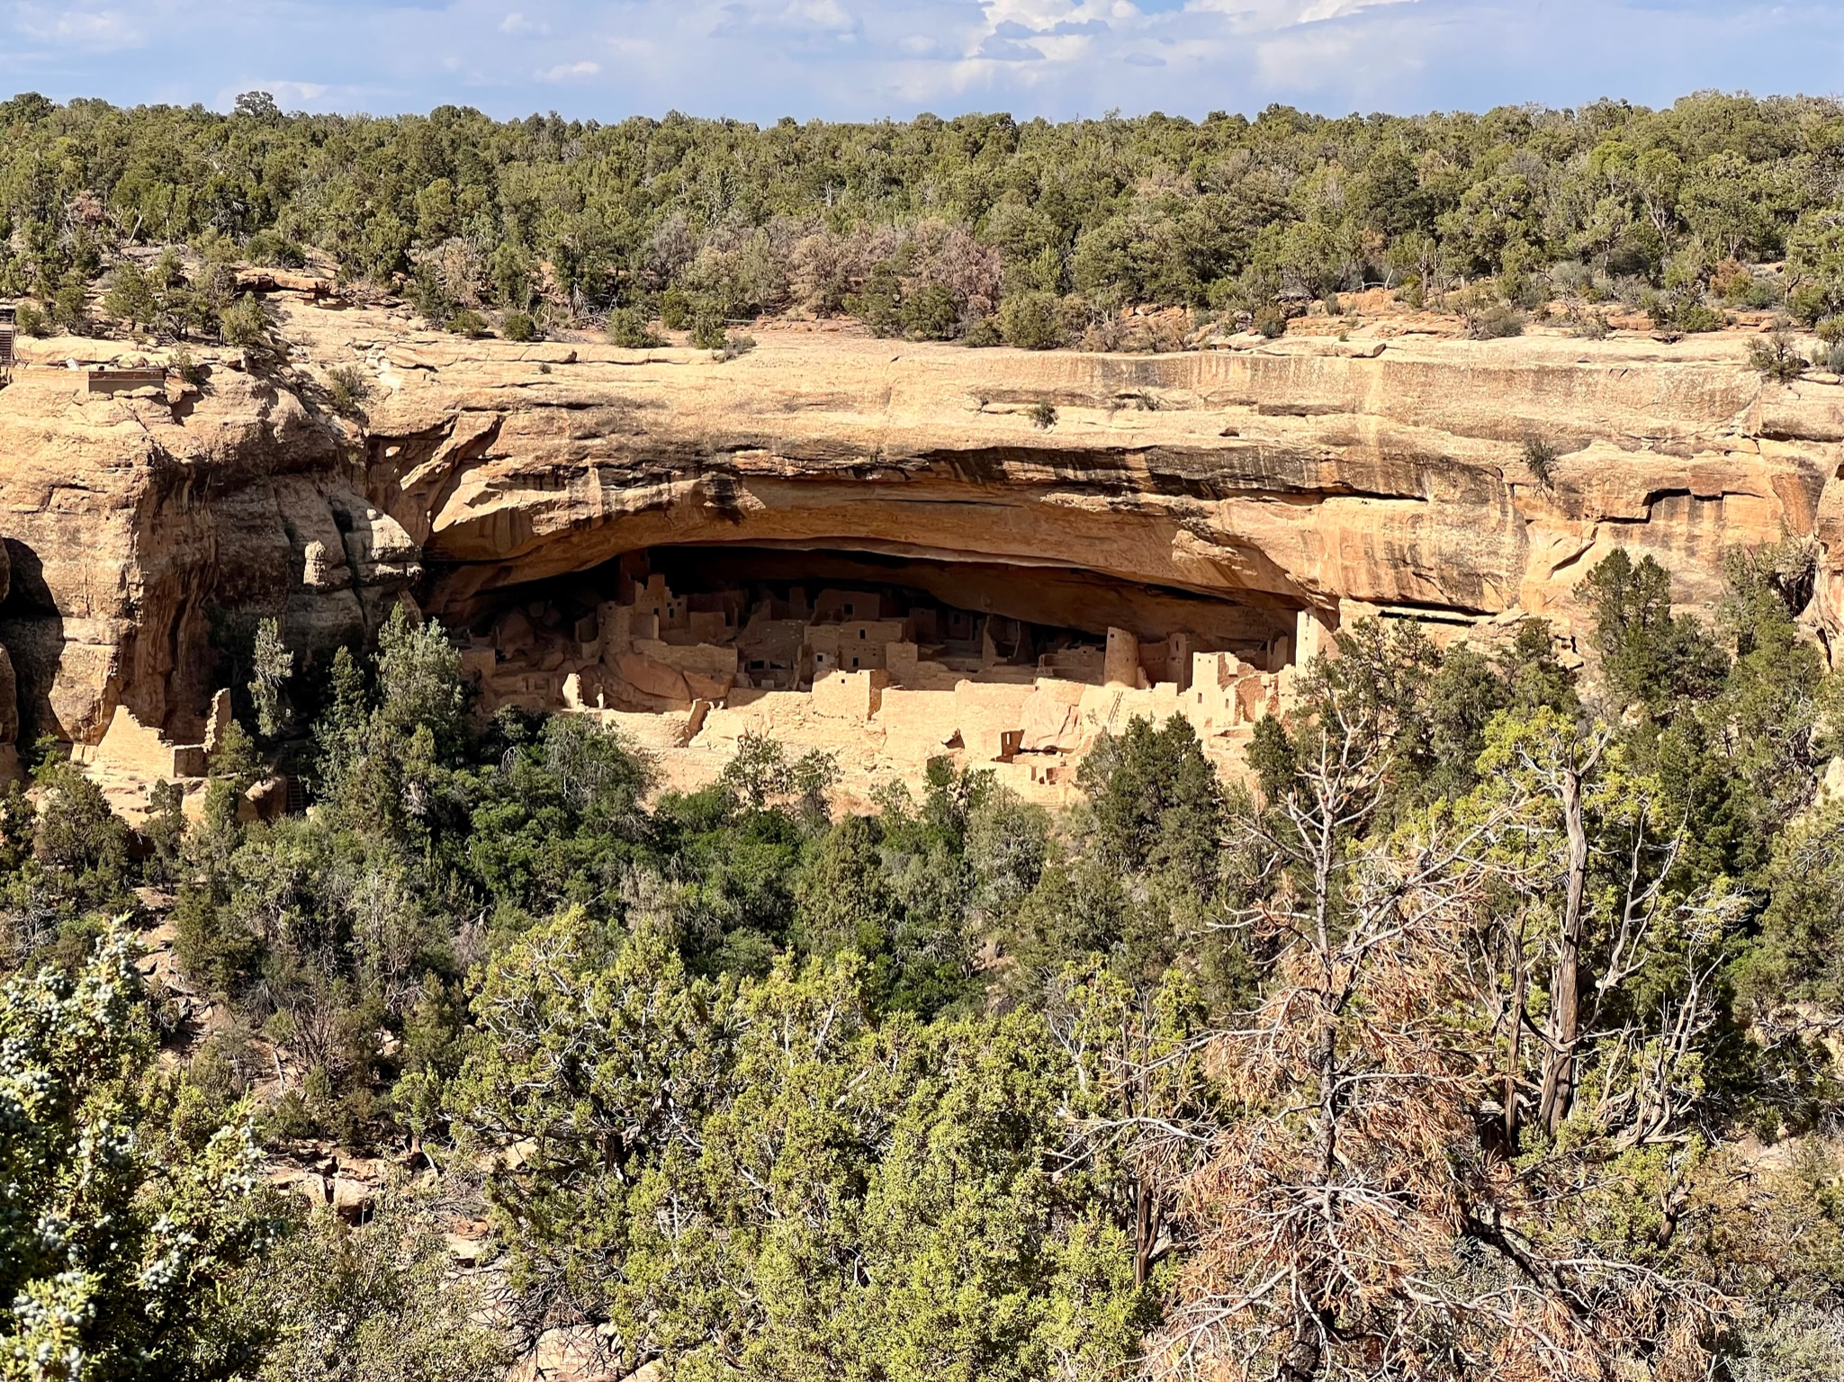
[(769, 733), (837, 754), (843, 807), (939, 755), (1062, 802), (1134, 715), (1182, 713), (1241, 774), (1330, 628), (1534, 615), (1578, 656), (1573, 591), (1614, 547), (1708, 612), (1728, 545), (1809, 534), (1807, 621), (1844, 647), (1837, 383), (1763, 381), (1733, 337), (1116, 357), (763, 330), (715, 359), (282, 315), (371, 381), (363, 424), (232, 354), (208, 389), (100, 389), (22, 339), (0, 391), (0, 702), (11, 667), (26, 732), (118, 770), (112, 800), (203, 752), (219, 614), (315, 667), (406, 595), (485, 709), (596, 715), (675, 789)]

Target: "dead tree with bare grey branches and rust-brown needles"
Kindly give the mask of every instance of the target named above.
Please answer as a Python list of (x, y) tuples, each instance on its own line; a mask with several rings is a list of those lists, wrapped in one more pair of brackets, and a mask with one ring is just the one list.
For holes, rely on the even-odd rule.
[[(1523, 803), (1372, 829), (1387, 730), (1324, 702), (1293, 789), (1245, 822), (1259, 862), (1232, 925), (1265, 956), (1263, 995), (1200, 1043), (1221, 1096), (1178, 1187), (1189, 1257), (1149, 1373), (1586, 1380), (1623, 1356), (1700, 1356), (1720, 1301), (1556, 1231), (1554, 1181), (1490, 1135), (1507, 1074), (1470, 947), (1531, 886), (1505, 848)], [(1545, 1052), (1573, 1039), (1545, 1032)]]

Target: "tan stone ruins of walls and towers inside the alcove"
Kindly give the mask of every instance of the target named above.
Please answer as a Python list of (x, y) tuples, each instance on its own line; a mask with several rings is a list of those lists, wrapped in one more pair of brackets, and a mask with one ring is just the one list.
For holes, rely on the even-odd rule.
[(680, 787), (708, 781), (758, 732), (839, 754), (846, 794), (918, 783), (948, 755), (1057, 803), (1099, 735), (1136, 715), (1186, 717), (1206, 755), (1239, 774), (1256, 720), (1285, 713), (1296, 663), (1328, 641), (1311, 610), (1289, 632), (1199, 647), (1182, 628), (1084, 634), (891, 588), (679, 591), (645, 553), (620, 566), (609, 599), (579, 584), (503, 608), (472, 634), (463, 665), (485, 711), (620, 724)]

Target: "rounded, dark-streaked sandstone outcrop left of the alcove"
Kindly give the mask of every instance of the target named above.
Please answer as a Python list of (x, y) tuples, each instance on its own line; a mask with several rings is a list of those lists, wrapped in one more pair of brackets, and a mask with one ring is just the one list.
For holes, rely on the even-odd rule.
[[(0, 645), (22, 733), (94, 741), (125, 704), (195, 739), (240, 625), (277, 615), (297, 647), (330, 647), (417, 577), (325, 415), (229, 363), (208, 374), (100, 391), (39, 363), (0, 389)], [(315, 544), (336, 553), (319, 571)]]

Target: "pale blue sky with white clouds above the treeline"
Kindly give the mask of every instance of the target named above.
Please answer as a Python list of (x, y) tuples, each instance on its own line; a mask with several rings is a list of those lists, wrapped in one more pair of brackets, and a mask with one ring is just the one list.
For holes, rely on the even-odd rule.
[(1835, 94), (1838, 0), (0, 0), (0, 92), (229, 109), (1451, 111)]

